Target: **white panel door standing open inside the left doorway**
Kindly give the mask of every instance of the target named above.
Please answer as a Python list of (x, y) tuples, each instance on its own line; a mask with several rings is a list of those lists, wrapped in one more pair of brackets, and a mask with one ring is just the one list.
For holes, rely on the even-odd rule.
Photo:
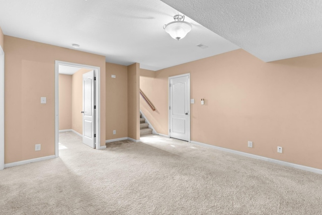
[(94, 70), (83, 74), (83, 143), (95, 149)]

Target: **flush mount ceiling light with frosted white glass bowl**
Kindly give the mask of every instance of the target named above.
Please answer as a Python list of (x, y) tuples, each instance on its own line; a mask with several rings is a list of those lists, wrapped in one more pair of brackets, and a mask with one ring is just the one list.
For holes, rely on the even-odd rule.
[(191, 31), (192, 26), (190, 23), (184, 21), (184, 15), (175, 15), (173, 18), (175, 21), (164, 25), (163, 28), (172, 38), (180, 40)]

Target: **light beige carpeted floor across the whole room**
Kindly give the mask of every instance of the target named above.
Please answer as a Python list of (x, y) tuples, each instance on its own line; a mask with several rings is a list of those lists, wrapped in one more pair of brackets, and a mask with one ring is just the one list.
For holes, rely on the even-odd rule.
[(0, 171), (0, 214), (322, 214), (322, 175), (158, 135)]

